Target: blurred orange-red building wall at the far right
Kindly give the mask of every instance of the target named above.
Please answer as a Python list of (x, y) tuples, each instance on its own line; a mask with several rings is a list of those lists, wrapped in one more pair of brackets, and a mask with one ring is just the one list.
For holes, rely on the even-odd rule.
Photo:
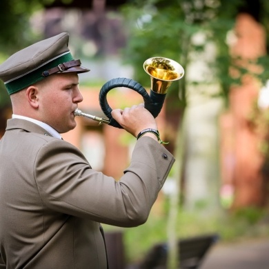
[[(237, 16), (236, 41), (230, 47), (232, 57), (240, 57), (239, 65), (253, 72), (259, 66), (250, 61), (266, 54), (263, 26), (248, 13)], [(236, 76), (235, 70), (231, 75)], [(265, 206), (268, 176), (262, 168), (264, 157), (259, 150), (261, 136), (251, 128), (250, 114), (257, 104), (261, 83), (247, 74), (241, 86), (230, 90), (230, 109), (220, 119), (221, 176), (224, 188), (230, 188), (232, 208)]]

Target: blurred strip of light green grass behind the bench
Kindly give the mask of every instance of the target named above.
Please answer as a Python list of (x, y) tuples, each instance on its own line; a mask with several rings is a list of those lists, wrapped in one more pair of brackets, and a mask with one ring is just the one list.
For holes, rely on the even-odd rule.
[[(167, 241), (166, 226), (168, 215), (150, 214), (148, 221), (136, 228), (121, 229), (128, 263), (135, 262), (155, 244)], [(178, 239), (195, 235), (217, 233), (220, 242), (238, 241), (257, 237), (269, 238), (268, 211), (257, 208), (245, 208), (237, 212), (207, 212), (181, 210), (177, 219)], [(105, 227), (106, 230), (119, 228)]]

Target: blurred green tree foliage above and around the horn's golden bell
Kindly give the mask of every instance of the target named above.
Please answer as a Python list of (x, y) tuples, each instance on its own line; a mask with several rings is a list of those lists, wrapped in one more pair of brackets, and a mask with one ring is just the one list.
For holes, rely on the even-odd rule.
[[(247, 72), (235, 66), (229, 52), (229, 32), (235, 25), (239, 12), (252, 12), (255, 19), (263, 23), (269, 32), (269, 3), (257, 1), (259, 14), (252, 10), (253, 1), (245, 0), (133, 0), (121, 9), (126, 17), (130, 32), (128, 46), (123, 51), (127, 63), (135, 68), (135, 79), (149, 86), (149, 79), (141, 66), (150, 57), (163, 56), (179, 61), (183, 68), (188, 68), (191, 55), (203, 52), (206, 44), (214, 43), (217, 50), (214, 61), (209, 62), (211, 77), (206, 83), (219, 83), (221, 91), (215, 97), (222, 97), (229, 106), (228, 95), (232, 83), (240, 83), (240, 77), (232, 79), (229, 70), (237, 68), (241, 74)], [(255, 3), (252, 3), (254, 5)], [(203, 41), (195, 41), (198, 34), (203, 34)], [(267, 36), (268, 38), (268, 36)], [(213, 52), (214, 53), (214, 52)], [(267, 67), (268, 57), (261, 57), (259, 63)], [(260, 78), (268, 78), (268, 68), (264, 68)], [(186, 76), (185, 76), (186, 77)], [(181, 106), (186, 106), (186, 79), (179, 81), (179, 87), (173, 90), (181, 92)], [(197, 84), (199, 81), (188, 81)], [(172, 89), (168, 94), (175, 94)]]

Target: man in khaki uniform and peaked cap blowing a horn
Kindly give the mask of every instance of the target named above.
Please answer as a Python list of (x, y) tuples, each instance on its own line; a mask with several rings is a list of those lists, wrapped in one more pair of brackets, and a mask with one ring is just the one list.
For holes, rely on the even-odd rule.
[(175, 161), (143, 106), (112, 111), (126, 131), (140, 133), (119, 181), (61, 139), (83, 100), (78, 73), (89, 71), (72, 58), (68, 39), (40, 41), (0, 66), (13, 110), (0, 141), (0, 268), (107, 268), (100, 223), (144, 223)]

